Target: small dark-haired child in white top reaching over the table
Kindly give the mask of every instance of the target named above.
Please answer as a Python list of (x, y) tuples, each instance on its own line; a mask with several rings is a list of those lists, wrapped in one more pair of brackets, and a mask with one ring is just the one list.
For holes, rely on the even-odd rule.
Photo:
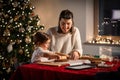
[[(35, 50), (32, 54), (31, 62), (39, 62), (46, 59), (56, 59), (59, 56), (48, 50), (50, 36), (44, 32), (37, 32), (34, 36)], [(47, 57), (47, 58), (46, 58)]]

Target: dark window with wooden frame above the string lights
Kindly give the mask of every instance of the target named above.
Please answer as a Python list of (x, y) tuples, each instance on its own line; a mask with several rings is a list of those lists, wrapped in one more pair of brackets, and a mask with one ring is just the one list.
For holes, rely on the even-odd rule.
[(95, 38), (110, 39), (120, 43), (120, 6), (119, 0), (94, 0)]

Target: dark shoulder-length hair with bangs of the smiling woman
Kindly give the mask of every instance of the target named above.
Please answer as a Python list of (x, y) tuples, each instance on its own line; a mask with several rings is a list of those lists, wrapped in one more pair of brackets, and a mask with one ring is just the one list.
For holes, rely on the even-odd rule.
[(61, 20), (62, 18), (63, 18), (63, 19), (72, 19), (72, 27), (71, 27), (71, 29), (70, 29), (70, 32), (72, 33), (72, 31), (73, 31), (73, 26), (74, 26), (73, 13), (72, 13), (70, 10), (68, 10), (68, 9), (61, 11), (61, 13), (60, 13), (60, 15), (59, 15), (59, 21), (58, 21), (58, 33), (62, 33), (62, 30), (61, 30), (61, 28), (60, 28), (60, 20)]

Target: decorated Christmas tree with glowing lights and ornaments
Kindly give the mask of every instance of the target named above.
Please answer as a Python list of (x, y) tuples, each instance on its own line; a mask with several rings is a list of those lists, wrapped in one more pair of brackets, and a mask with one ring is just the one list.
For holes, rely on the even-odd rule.
[(0, 61), (27, 62), (34, 49), (33, 35), (43, 30), (30, 0), (0, 0)]

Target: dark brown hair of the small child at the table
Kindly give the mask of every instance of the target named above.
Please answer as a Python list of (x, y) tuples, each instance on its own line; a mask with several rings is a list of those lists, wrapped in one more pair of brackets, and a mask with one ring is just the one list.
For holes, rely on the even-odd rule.
[(45, 32), (37, 32), (33, 40), (35, 44), (45, 43), (47, 40), (50, 40), (50, 36)]

